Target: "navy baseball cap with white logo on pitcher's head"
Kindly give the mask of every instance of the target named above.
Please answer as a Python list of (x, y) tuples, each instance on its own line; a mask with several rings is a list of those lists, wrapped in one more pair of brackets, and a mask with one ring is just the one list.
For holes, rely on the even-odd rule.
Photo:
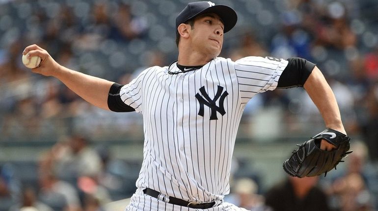
[(220, 17), (224, 24), (224, 33), (231, 30), (238, 21), (235, 10), (229, 6), (216, 5), (211, 1), (190, 2), (176, 18), (176, 31), (181, 23), (185, 23), (205, 13), (215, 13)]

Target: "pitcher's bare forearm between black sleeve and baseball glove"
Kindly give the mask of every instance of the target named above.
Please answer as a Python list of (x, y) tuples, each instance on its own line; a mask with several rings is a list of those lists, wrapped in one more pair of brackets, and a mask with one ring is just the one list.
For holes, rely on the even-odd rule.
[(335, 95), (317, 67), (307, 78), (304, 89), (322, 114), (325, 126), (346, 134)]

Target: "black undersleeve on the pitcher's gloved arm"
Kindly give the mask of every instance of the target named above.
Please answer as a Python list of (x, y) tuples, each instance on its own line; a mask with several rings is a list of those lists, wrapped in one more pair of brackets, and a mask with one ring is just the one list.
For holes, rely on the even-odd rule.
[(303, 87), (315, 64), (296, 57), (287, 61), (289, 64), (279, 77), (277, 88)]

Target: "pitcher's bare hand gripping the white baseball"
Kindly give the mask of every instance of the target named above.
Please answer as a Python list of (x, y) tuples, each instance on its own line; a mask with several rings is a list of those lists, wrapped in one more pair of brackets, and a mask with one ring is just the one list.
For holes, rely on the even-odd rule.
[(37, 68), (31, 69), (31, 71), (34, 73), (39, 73), (45, 76), (53, 76), (60, 67), (60, 65), (55, 62), (53, 57), (51, 57), (45, 49), (35, 44), (25, 48), (23, 54), (26, 55), (27, 53), (29, 53), (30, 57), (41, 57), (41, 64)]

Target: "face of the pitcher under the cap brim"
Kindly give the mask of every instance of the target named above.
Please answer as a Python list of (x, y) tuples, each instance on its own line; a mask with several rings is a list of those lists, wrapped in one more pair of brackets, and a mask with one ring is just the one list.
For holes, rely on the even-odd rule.
[(190, 30), (191, 46), (212, 58), (218, 56), (223, 45), (223, 29), (221, 19), (214, 13), (196, 17)]

